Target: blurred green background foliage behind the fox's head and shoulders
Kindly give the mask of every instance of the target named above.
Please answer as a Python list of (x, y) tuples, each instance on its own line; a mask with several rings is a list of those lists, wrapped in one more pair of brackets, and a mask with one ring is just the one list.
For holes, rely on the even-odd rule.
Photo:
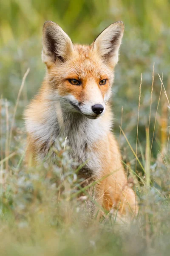
[[(45, 75), (45, 65), (41, 61), (42, 26), (45, 20), (58, 23), (73, 42), (83, 44), (91, 44), (106, 26), (122, 20), (125, 23), (125, 34), (113, 85), (115, 132), (119, 133), (123, 106), (122, 127), (130, 143), (135, 145), (142, 73), (139, 141), (145, 148), (153, 63), (155, 81), (150, 138), (161, 85), (157, 73), (163, 73), (164, 86), (167, 93), (170, 91), (169, 14), (169, 0), (0, 0), (0, 94), (14, 104), (23, 75), (30, 68), (18, 108), (20, 114), (17, 118), (21, 120), (23, 108), (37, 92)], [(163, 143), (161, 113), (164, 102), (162, 97), (157, 120), (159, 125), (156, 126), (154, 136), (155, 156)], [(164, 117), (167, 118), (166, 111)], [(126, 154), (127, 143), (124, 137), (121, 142)], [(129, 155), (126, 157), (128, 159)]]

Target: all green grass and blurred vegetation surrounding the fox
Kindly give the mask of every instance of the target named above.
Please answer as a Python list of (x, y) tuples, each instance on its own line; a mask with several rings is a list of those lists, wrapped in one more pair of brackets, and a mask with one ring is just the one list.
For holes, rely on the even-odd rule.
[[(169, 12), (168, 0), (0, 2), (0, 255), (169, 255)], [(65, 138), (53, 149), (55, 162), (25, 166), (22, 114), (45, 74), (45, 20), (86, 44), (110, 23), (125, 23), (112, 105), (113, 131), (139, 198), (139, 215), (128, 224), (113, 212), (97, 221), (99, 206), (87, 190), (77, 198), (81, 180), (71, 149), (63, 152)]]

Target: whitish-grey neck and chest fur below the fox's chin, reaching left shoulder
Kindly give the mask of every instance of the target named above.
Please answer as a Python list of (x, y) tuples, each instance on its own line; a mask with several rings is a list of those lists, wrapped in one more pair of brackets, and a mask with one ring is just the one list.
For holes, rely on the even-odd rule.
[[(93, 120), (81, 113), (69, 111), (65, 103), (60, 102), (59, 99), (46, 98), (44, 102), (42, 95), (34, 100), (26, 114), (27, 132), (34, 138), (37, 148), (41, 148), (39, 157), (44, 157), (57, 138), (67, 137), (68, 144), (72, 148), (72, 156), (84, 162), (85, 149), (91, 148), (98, 140), (105, 139), (112, 128), (112, 113), (109, 105), (106, 106), (103, 116)], [(44, 145), (44, 148), (39, 145)]]

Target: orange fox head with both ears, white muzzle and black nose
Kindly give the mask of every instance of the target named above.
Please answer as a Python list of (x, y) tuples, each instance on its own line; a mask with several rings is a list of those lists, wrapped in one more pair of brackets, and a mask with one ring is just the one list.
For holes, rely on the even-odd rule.
[(102, 31), (91, 45), (77, 45), (56, 23), (45, 22), (42, 61), (47, 67), (48, 89), (66, 111), (90, 119), (105, 112), (123, 32), (124, 24), (119, 21)]

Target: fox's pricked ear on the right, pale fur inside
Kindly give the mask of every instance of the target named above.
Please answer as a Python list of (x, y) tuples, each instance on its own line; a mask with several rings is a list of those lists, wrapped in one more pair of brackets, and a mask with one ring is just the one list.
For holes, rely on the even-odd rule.
[(115, 65), (118, 62), (123, 32), (124, 23), (122, 21), (111, 24), (95, 39), (93, 50), (105, 61)]

